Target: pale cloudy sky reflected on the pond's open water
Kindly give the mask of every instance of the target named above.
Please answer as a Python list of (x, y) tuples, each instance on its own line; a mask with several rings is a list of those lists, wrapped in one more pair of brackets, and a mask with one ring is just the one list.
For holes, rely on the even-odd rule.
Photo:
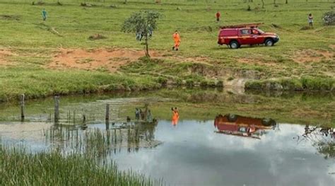
[[(304, 126), (281, 124), (261, 140), (213, 134), (213, 120), (160, 121), (155, 138), (164, 144), (138, 153), (118, 153), (119, 168), (138, 170), (170, 185), (332, 185), (335, 161), (324, 160), (311, 141), (293, 136)], [(309, 179), (305, 179), (309, 178)]]

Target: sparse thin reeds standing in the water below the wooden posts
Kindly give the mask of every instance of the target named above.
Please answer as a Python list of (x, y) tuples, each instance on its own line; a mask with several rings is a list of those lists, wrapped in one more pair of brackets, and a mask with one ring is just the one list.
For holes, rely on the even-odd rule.
[[(153, 148), (161, 144), (155, 140), (158, 122), (123, 122), (109, 124), (66, 125), (54, 124), (44, 132), (45, 143), (63, 153), (84, 153), (105, 158), (121, 149), (129, 153), (140, 148)], [(83, 129), (83, 126), (86, 126)]]

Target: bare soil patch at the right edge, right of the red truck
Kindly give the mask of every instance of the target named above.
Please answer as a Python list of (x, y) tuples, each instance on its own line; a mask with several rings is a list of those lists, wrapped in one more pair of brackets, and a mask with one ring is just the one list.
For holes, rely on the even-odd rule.
[(322, 60), (334, 60), (334, 52), (326, 50), (300, 50), (293, 54), (293, 60), (297, 63), (321, 62)]

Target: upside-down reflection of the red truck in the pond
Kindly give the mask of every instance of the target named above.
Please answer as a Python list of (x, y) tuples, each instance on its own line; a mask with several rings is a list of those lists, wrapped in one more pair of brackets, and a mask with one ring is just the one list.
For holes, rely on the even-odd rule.
[(243, 117), (240, 115), (218, 115), (214, 120), (214, 126), (218, 133), (235, 136), (246, 136), (260, 139), (259, 136), (265, 134), (266, 129), (271, 129), (276, 122), (272, 119), (259, 119), (253, 117)]

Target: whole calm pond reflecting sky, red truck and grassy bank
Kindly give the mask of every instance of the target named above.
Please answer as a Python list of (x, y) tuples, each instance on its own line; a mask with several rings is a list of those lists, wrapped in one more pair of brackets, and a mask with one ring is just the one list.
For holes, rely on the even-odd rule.
[[(1, 143), (23, 144), (33, 152), (91, 153), (167, 185), (335, 182), (332, 95), (164, 90), (64, 97), (57, 124), (52, 104), (52, 98), (30, 101), (25, 122), (18, 121), (18, 105), (1, 105)], [(144, 110), (146, 104), (153, 121), (136, 120), (135, 108)], [(177, 122), (171, 120), (171, 107), (179, 111)], [(269, 117), (274, 123), (264, 124)]]

